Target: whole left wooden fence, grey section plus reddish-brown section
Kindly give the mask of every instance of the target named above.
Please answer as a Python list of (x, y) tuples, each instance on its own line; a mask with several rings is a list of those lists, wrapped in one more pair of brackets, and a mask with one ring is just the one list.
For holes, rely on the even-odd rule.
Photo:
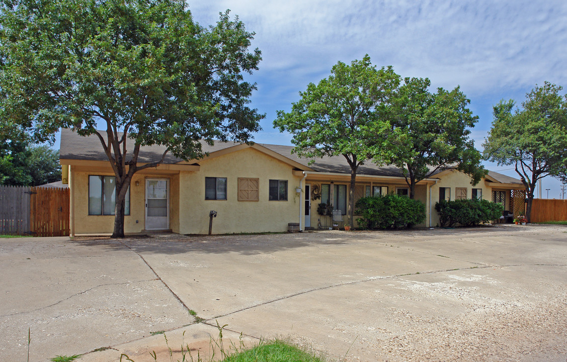
[(0, 186), (0, 234), (69, 236), (69, 189)]

